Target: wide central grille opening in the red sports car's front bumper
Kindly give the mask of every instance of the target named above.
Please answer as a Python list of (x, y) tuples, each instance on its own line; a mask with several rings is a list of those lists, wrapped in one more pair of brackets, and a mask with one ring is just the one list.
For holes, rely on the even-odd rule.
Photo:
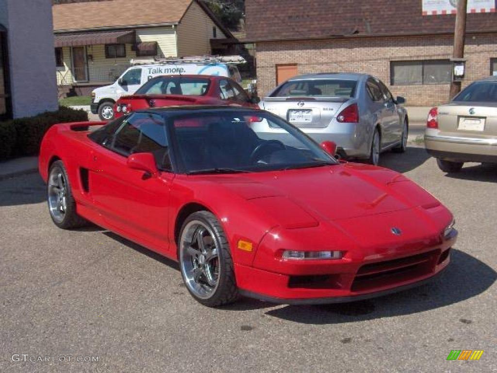
[(352, 283), (352, 291), (374, 290), (399, 282), (415, 280), (433, 271), (439, 250), (418, 254), (407, 258), (362, 266)]

